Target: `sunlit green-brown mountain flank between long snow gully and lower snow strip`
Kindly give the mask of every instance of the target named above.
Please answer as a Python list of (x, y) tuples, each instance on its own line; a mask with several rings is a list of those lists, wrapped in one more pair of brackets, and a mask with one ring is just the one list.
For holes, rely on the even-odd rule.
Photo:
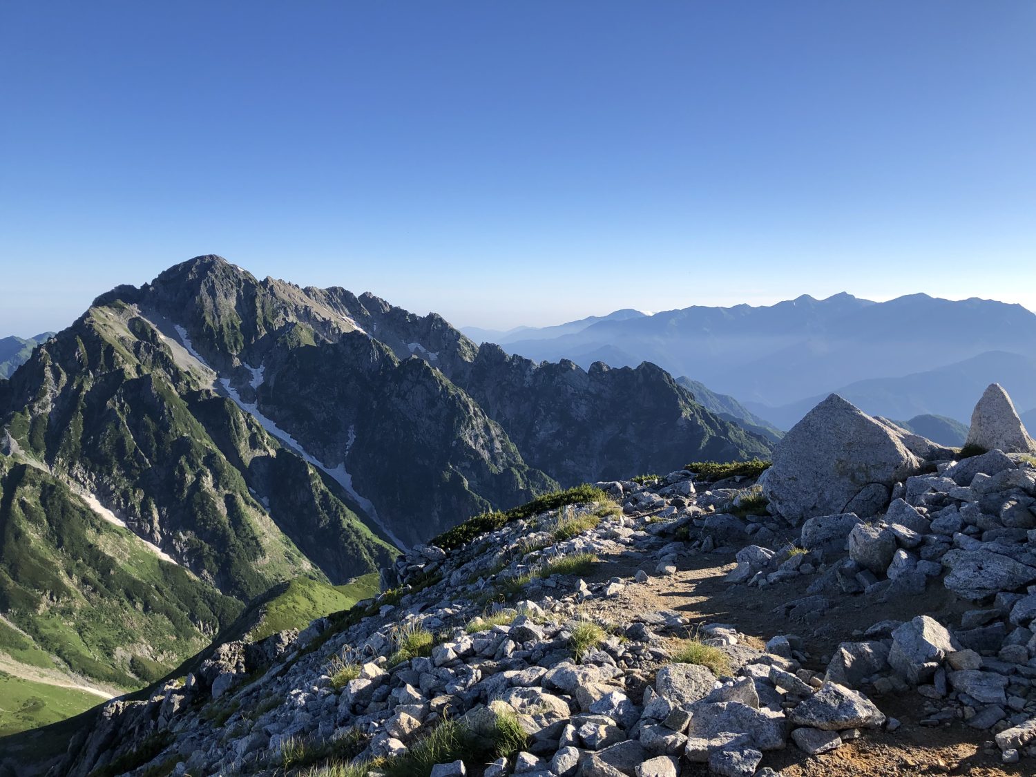
[(91, 308), (12, 376), (12, 450), (241, 600), (391, 557), (344, 492), (208, 390), (185, 355), (136, 308)]

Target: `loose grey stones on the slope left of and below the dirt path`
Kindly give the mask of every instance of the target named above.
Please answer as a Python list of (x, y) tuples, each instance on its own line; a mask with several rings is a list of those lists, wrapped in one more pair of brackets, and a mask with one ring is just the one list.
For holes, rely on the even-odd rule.
[[(669, 574), (669, 562), (687, 549), (669, 536), (715, 510), (693, 503), (685, 472), (616, 486), (627, 512), (575, 537), (557, 540), (553, 529), (599, 506), (515, 522), (451, 553), (413, 548), (396, 566), (401, 587), (357, 605), (372, 614), (337, 633), (324, 618), (297, 635), (220, 645), (183, 685), (167, 684), (146, 701), (111, 702), (86, 741), (69, 750), (62, 773), (85, 775), (159, 733), (173, 742), (141, 771), (167, 765), (174, 774), (250, 773), (276, 768), (297, 741), (358, 736), (355, 758), (363, 761), (405, 754), (444, 719), (479, 732), (514, 716), (526, 748), (497, 759), (486, 775), (661, 777), (679, 774), (682, 762), (752, 775), (764, 752), (789, 742), (826, 752), (885, 723), (866, 696), (803, 668), (795, 636), (776, 637), (760, 651), (730, 626), (701, 627), (702, 641), (729, 665), (717, 677), (672, 662), (672, 640), (688, 634), (685, 617), (642, 612), (607, 625), (576, 660), (573, 634), (595, 601), (645, 581), (642, 571), (591, 583), (533, 578), (522, 591), (527, 598), (513, 608), (486, 609), (480, 594), (487, 587), (573, 553), (633, 553)], [(436, 581), (414, 587), (429, 580)], [(435, 635), (434, 646), (400, 660), (400, 645), (418, 629)], [(340, 687), (336, 657), (355, 667)], [(199, 714), (199, 704), (208, 714)], [(463, 765), (438, 771), (463, 772)]]

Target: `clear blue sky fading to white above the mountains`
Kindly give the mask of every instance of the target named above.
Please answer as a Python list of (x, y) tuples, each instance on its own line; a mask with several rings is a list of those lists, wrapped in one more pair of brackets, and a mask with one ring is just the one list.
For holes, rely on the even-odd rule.
[(0, 2), (0, 336), (218, 253), (456, 324), (1036, 309), (1036, 3)]

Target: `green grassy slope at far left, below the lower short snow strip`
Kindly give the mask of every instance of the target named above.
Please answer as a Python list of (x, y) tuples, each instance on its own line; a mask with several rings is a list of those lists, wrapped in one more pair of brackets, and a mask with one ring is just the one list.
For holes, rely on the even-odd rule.
[(240, 609), (46, 471), (0, 456), (8, 673), (27, 666), (137, 687), (204, 648)]

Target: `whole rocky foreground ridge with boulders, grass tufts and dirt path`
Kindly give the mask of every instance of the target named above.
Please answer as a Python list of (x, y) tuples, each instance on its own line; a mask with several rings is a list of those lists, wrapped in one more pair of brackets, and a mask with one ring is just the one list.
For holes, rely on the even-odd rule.
[(1032, 773), (1036, 444), (999, 386), (971, 434), (833, 396), (771, 466), (481, 516), (109, 702), (51, 774)]

